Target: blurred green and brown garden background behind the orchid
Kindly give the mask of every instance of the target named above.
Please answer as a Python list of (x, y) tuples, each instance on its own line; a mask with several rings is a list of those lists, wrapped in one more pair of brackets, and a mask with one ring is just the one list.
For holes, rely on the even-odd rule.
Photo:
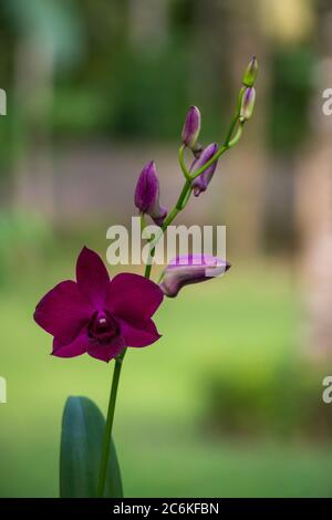
[(1, 2), (2, 497), (58, 496), (66, 396), (108, 397), (112, 364), (50, 357), (35, 303), (83, 245), (105, 258), (152, 158), (174, 204), (188, 106), (220, 142), (252, 54), (255, 115), (178, 219), (226, 225), (234, 267), (131, 350), (115, 440), (126, 496), (332, 496), (331, 35), (329, 0)]

